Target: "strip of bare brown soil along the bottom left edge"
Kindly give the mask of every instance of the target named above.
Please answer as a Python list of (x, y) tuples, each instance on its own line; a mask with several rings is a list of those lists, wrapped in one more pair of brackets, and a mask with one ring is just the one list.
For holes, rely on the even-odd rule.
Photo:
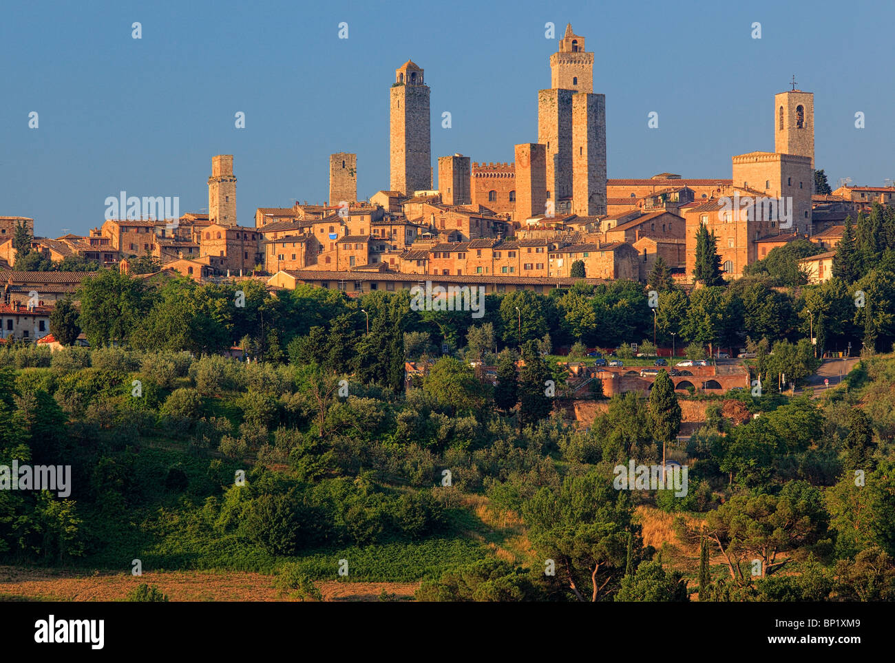
[[(124, 599), (142, 582), (157, 585), (173, 601), (290, 600), (274, 589), (273, 576), (252, 573), (172, 571), (125, 574), (83, 574), (0, 566), (0, 600), (25, 597), (39, 600), (114, 601)], [(317, 582), (326, 601), (376, 601), (385, 591), (396, 600), (413, 600), (418, 582)]]

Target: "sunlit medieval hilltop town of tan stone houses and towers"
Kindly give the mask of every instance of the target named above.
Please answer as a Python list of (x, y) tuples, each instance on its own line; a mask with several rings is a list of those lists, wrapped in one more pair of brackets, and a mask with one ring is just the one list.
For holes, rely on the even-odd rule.
[[(593, 92), (593, 54), (568, 25), (550, 56), (550, 89), (538, 91), (538, 142), (517, 144), (510, 164), (439, 157), (433, 173), (430, 88), (424, 70), (408, 60), (388, 92), (388, 191), (369, 200), (358, 200), (357, 155), (338, 152), (329, 157), (327, 202), (257, 208), (254, 225), (239, 225), (234, 157), (217, 155), (207, 214), (165, 218), (144, 214), (139, 204), (125, 213), (122, 200), (115, 217), (90, 234), (55, 239), (35, 235), (30, 217), (0, 217), (3, 337), (47, 335), (54, 302), (90, 274), (13, 269), (19, 226), (44, 259), (76, 256), (127, 272), (134, 259), (148, 257), (169, 276), (261, 278), (272, 288), (309, 284), (359, 294), (425, 281), (546, 293), (579, 280), (572, 276), (577, 261), (588, 283), (643, 282), (661, 259), (689, 285), (696, 230), (706, 225), (727, 278), (776, 247), (807, 239), (825, 250), (802, 261), (810, 281), (822, 282), (831, 277), (844, 219), (874, 202), (891, 204), (895, 187), (845, 185), (815, 194), (814, 95), (792, 87), (768, 108), (775, 151), (732, 157), (729, 177), (607, 179), (605, 95)], [(731, 209), (731, 200), (741, 202)], [(774, 203), (770, 213), (760, 200)]]

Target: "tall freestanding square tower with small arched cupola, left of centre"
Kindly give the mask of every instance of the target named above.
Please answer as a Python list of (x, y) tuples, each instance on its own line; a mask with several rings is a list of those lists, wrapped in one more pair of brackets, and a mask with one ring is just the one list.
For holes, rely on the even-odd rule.
[(390, 183), (392, 191), (412, 194), (432, 185), (429, 86), (410, 60), (395, 70), (390, 93)]

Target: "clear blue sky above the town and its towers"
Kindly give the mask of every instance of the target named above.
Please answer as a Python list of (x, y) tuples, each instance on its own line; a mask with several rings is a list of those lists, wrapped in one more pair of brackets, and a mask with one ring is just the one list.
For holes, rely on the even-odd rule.
[(537, 140), (548, 21), (595, 54), (610, 178), (730, 177), (732, 155), (773, 151), (773, 95), (794, 73), (833, 188), (895, 178), (891, 2), (5, 2), (0, 216), (55, 237), (101, 225), (122, 190), (205, 210), (216, 154), (234, 155), (241, 225), (326, 200), (331, 152), (357, 153), (367, 198), (388, 189), (388, 89), (408, 58), (431, 89), (433, 166), (512, 161)]

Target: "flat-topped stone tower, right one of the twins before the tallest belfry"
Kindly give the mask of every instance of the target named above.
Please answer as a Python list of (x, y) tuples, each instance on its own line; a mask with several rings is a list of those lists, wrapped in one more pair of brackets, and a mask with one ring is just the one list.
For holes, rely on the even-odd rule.
[(606, 96), (572, 98), (572, 214), (606, 214)]

